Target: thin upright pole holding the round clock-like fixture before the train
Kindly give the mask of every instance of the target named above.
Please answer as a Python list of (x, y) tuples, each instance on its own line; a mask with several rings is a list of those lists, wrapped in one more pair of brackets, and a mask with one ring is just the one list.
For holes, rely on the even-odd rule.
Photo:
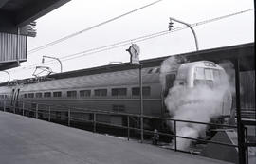
[(139, 90), (140, 90), (140, 131), (141, 131), (141, 143), (143, 143), (143, 86), (142, 86), (142, 64), (139, 64)]

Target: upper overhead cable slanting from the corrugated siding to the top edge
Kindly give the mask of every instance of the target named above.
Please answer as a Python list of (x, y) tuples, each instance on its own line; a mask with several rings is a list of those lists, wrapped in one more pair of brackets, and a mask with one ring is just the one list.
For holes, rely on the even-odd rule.
[(112, 18), (112, 19), (109, 19), (109, 20), (106, 20), (106, 21), (104, 21), (104, 22), (101, 22), (100, 24), (97, 24), (97, 25), (95, 25), (95, 26), (87, 27), (87, 28), (85, 28), (85, 29), (82, 29), (81, 31), (72, 33), (72, 34), (70, 34), (70, 35), (64, 36), (64, 37), (61, 38), (61, 39), (58, 39), (58, 40), (53, 41), (53, 42), (50, 42), (50, 43), (48, 43), (48, 44), (46, 44), (46, 45), (44, 45), (44, 46), (38, 46), (38, 47), (36, 47), (36, 48), (33, 48), (33, 49), (29, 50), (28, 53), (31, 54), (31, 53), (37, 52), (37, 51), (39, 51), (39, 50), (41, 50), (41, 49), (44, 49), (44, 48), (46, 48), (46, 47), (48, 47), (48, 46), (56, 45), (56, 44), (58, 44), (58, 43), (61, 43), (61, 42), (65, 41), (65, 40), (69, 39), (69, 38), (72, 38), (72, 37), (74, 37), (74, 36), (80, 35), (80, 34), (82, 34), (82, 33), (85, 32), (85, 31), (88, 31), (88, 30), (93, 29), (93, 28), (95, 28), (95, 27), (101, 27), (101, 26), (104, 25), (104, 24), (107, 24), (107, 23), (109, 23), (109, 22), (115, 21), (115, 20), (117, 20), (117, 19), (119, 19), (119, 18), (121, 18), (121, 17), (123, 17), (123, 16), (126, 16), (126, 15), (128, 15), (128, 14), (131, 14), (131, 13), (133, 13), (133, 12), (136, 12), (137, 10), (144, 9), (144, 8), (150, 7), (150, 6), (152, 6), (152, 5), (155, 5), (156, 3), (160, 2), (160, 1), (162, 1), (162, 0), (157, 0), (157, 1), (153, 2), (153, 3), (150, 3), (150, 4), (148, 4), (148, 5), (145, 5), (145, 6), (143, 6), (143, 7), (138, 8), (138, 9), (134, 9), (134, 10), (131, 10), (131, 11), (129, 11), (129, 12), (123, 13), (123, 14), (117, 16), (117, 17), (114, 17), (114, 18)]

